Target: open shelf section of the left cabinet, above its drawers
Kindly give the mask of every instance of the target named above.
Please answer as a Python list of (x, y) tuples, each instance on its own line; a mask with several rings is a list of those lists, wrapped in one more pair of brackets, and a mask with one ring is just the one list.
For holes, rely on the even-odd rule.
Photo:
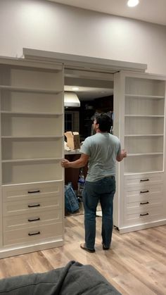
[(1, 84), (2, 184), (59, 180), (63, 156), (61, 72), (55, 79), (55, 73), (45, 70), (6, 65), (1, 71), (7, 76)]

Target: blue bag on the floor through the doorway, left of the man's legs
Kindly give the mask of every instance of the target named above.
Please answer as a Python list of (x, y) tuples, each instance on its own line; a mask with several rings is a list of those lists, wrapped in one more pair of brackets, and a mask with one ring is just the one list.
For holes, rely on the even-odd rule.
[(65, 185), (65, 209), (71, 213), (79, 210), (77, 196), (71, 184)]

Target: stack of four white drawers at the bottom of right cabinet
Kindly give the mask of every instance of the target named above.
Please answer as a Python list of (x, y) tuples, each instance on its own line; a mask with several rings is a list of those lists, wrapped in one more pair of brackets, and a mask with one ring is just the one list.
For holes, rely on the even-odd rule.
[(125, 225), (142, 225), (164, 216), (163, 174), (125, 176)]

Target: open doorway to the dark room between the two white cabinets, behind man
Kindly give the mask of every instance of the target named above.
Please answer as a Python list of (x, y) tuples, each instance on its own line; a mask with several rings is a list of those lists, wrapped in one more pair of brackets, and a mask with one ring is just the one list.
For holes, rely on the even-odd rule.
[[(84, 75), (83, 75), (84, 74)], [(70, 75), (72, 77), (70, 77)], [(71, 106), (65, 107), (65, 132), (79, 132), (80, 142), (84, 142), (84, 139), (94, 134), (93, 121), (97, 113), (108, 113), (113, 122), (113, 75), (86, 72), (78, 73), (78, 71), (65, 73), (65, 93), (74, 93), (79, 99), (80, 106), (73, 107), (72, 101)], [(113, 123), (112, 123), (113, 125)], [(75, 161), (79, 158), (80, 152), (65, 151), (65, 158), (69, 161)], [(79, 200), (79, 210), (75, 211), (74, 214), (84, 214), (84, 208), (82, 205), (82, 194), (81, 189), (79, 190), (80, 177), (87, 176), (87, 166), (82, 169), (71, 169), (65, 170), (65, 184), (72, 185), (75, 191), (75, 195)], [(66, 215), (72, 215), (65, 211)], [(101, 206), (98, 203), (97, 215), (101, 216)]]

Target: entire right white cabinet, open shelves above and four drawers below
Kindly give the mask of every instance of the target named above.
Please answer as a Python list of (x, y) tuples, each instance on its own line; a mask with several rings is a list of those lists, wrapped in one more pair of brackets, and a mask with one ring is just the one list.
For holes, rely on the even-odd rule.
[(115, 225), (129, 232), (166, 224), (165, 77), (116, 74), (115, 113), (114, 132), (127, 150), (117, 172)]

